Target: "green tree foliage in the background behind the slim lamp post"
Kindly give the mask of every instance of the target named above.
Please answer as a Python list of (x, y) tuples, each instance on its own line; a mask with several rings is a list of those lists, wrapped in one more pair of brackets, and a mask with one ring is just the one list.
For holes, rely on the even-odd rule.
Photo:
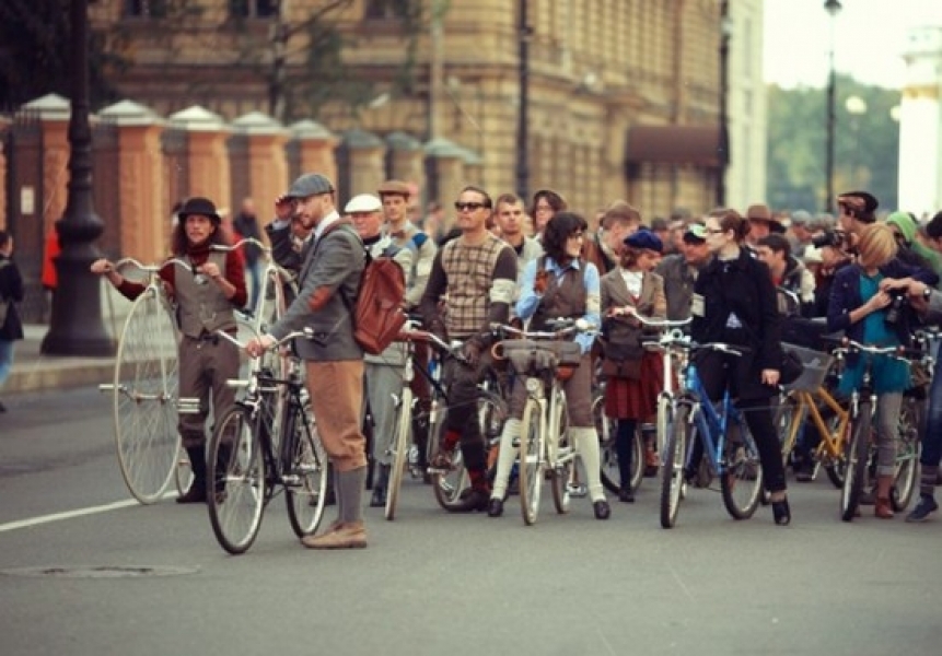
[[(847, 98), (858, 96), (867, 112), (851, 115)], [(768, 188), (776, 208), (824, 210), (827, 143), (827, 90), (770, 86), (768, 90)], [(835, 194), (867, 189), (881, 209), (897, 203), (899, 126), (889, 117), (899, 92), (863, 85), (838, 75), (835, 94)]]

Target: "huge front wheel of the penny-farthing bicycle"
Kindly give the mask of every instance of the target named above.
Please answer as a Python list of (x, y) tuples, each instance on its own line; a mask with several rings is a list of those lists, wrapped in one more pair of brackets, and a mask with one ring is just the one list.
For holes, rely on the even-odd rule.
[(154, 286), (138, 296), (125, 320), (115, 359), (115, 444), (121, 477), (143, 504), (161, 499), (177, 464), (178, 336)]

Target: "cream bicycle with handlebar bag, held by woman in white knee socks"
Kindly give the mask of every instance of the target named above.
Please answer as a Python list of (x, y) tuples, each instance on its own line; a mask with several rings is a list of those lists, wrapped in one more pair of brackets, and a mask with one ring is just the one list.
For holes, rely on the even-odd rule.
[(567, 371), (579, 366), (581, 347), (560, 341), (577, 332), (592, 329), (584, 320), (549, 321), (549, 331), (528, 331), (512, 326), (495, 326), (504, 335), (492, 349), (495, 359), (507, 360), (517, 380), (525, 380), (526, 402), (521, 419), (519, 449), (520, 506), (524, 524), (532, 525), (539, 513), (542, 481), (549, 480), (553, 503), (558, 514), (569, 511), (575, 444), (569, 437), (569, 420), (562, 382)]

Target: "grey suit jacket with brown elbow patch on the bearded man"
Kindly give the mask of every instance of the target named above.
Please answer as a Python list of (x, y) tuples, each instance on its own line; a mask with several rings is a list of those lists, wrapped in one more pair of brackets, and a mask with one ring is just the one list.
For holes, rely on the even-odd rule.
[(363, 350), (353, 339), (348, 303), (352, 304), (357, 297), (364, 265), (363, 243), (349, 221), (329, 226), (305, 254), (298, 277), (301, 292), (281, 320), (271, 327), (271, 335), (281, 339), (310, 327), (313, 340), (294, 341), (298, 354), (304, 360), (361, 360)]

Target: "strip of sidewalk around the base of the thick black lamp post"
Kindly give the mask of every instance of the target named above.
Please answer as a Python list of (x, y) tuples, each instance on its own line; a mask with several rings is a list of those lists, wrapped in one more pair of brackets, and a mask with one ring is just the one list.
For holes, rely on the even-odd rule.
[(47, 325), (23, 326), (24, 339), (13, 347), (13, 371), (0, 389), (0, 397), (31, 391), (49, 391), (109, 383), (114, 378), (115, 359), (75, 355), (44, 355), (39, 352)]

